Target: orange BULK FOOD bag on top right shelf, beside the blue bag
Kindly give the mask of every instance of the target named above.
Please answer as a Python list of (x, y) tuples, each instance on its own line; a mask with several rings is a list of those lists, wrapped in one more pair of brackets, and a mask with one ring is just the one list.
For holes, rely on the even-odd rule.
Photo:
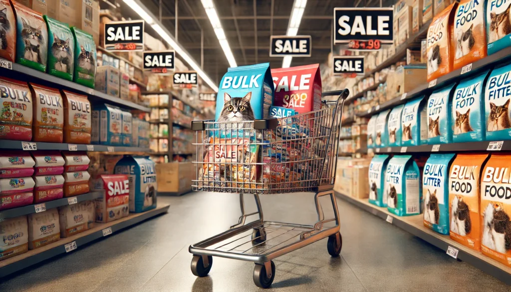
[(486, 30), (484, 29), (484, 1), (462, 0), (454, 14), (453, 70), (486, 57)]

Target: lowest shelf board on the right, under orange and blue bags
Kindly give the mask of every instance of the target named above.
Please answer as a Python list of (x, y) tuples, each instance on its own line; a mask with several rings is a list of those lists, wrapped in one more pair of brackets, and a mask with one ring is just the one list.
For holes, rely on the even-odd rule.
[(424, 227), (423, 214), (399, 217), (388, 212), (386, 208), (380, 208), (369, 204), (367, 199), (357, 199), (338, 192), (336, 192), (336, 195), (343, 200), (384, 220), (387, 220), (388, 216), (392, 217), (392, 225), (395, 225), (411, 233), (412, 235), (429, 242), (430, 244), (443, 251), (447, 251), (449, 246), (452, 246), (459, 251), (457, 257), (459, 260), (467, 262), (481, 269), (481, 271), (484, 273), (490, 274), (502, 282), (511, 285), (511, 267), (486, 257), (481, 254), (481, 252), (469, 249), (467, 246), (452, 240), (449, 235), (438, 234), (431, 229)]

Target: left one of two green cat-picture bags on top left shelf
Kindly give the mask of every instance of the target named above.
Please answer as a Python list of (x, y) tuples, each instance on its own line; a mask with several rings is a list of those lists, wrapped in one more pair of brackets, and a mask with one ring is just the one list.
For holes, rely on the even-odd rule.
[(75, 38), (69, 25), (44, 15), (48, 26), (48, 73), (73, 81)]

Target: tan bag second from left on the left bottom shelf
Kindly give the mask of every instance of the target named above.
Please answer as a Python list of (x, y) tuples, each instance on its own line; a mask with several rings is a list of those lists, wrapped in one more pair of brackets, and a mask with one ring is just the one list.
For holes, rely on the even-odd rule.
[(28, 215), (29, 249), (34, 250), (60, 239), (57, 208)]

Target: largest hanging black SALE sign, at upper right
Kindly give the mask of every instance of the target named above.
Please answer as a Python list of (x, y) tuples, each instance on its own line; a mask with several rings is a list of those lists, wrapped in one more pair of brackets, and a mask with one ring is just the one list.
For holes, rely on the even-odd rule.
[(335, 8), (334, 43), (351, 40), (393, 41), (393, 8)]

